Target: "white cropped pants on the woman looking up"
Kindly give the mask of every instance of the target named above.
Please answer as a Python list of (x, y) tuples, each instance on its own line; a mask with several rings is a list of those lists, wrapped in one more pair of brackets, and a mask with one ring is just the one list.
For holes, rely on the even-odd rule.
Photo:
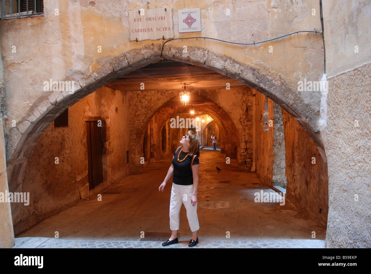
[[(182, 202), (187, 210), (188, 224), (192, 232), (200, 229), (197, 216), (197, 202), (192, 206), (191, 198), (193, 193), (193, 184), (182, 186), (173, 183), (170, 197), (170, 230), (179, 229), (180, 208)], [(187, 198), (187, 199), (186, 199)]]

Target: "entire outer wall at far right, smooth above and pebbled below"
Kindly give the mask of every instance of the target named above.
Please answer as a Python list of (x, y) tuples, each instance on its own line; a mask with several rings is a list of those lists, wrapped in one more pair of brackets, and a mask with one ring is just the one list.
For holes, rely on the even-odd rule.
[(323, 13), (328, 76), (326, 247), (370, 248), (371, 2), (323, 1)]

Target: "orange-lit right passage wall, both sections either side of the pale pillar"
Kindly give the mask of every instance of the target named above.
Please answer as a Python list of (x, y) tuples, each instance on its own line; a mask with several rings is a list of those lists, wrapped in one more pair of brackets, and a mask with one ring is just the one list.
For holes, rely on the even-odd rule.
[[(272, 187), (277, 183), (273, 181), (273, 175), (281, 174), (285, 170), (287, 177), (285, 198), (293, 202), (303, 214), (316, 218), (322, 225), (326, 225), (328, 213), (327, 165), (316, 144), (302, 126), (286, 111), (281, 110), (282, 118), (278, 119), (277, 110), (274, 111), (274, 102), (270, 99), (267, 101), (267, 120), (272, 120), (274, 123), (270, 127), (268, 122), (265, 130), (263, 117), (266, 97), (259, 92), (255, 96), (257, 176), (265, 185)], [(279, 127), (283, 127), (284, 130), (284, 135), (280, 134), (280, 137), (285, 139), (284, 142), (281, 141), (284, 148), (279, 148), (275, 144)], [(280, 151), (278, 151), (279, 149)], [(277, 153), (280, 154), (280, 158), (285, 157), (285, 163), (283, 168), (275, 173), (274, 170), (277, 171), (279, 167), (276, 161)], [(312, 157), (316, 158), (315, 164), (311, 163)], [(281, 164), (281, 161), (279, 163)]]

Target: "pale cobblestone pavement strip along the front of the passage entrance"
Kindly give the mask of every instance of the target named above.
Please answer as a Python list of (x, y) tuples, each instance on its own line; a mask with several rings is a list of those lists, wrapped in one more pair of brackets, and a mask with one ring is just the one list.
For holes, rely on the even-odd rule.
[[(13, 248), (190, 248), (187, 241), (162, 247), (162, 242), (154, 241), (94, 241), (56, 239), (45, 237), (15, 238)], [(203, 241), (192, 248), (325, 248), (324, 240), (282, 239), (259, 241)]]

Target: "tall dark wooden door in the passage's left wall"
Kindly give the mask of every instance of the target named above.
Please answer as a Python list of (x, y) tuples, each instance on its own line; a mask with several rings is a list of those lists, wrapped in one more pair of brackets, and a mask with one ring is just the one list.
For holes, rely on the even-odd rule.
[(103, 182), (101, 127), (97, 121), (86, 122), (86, 138), (89, 189), (92, 189)]

